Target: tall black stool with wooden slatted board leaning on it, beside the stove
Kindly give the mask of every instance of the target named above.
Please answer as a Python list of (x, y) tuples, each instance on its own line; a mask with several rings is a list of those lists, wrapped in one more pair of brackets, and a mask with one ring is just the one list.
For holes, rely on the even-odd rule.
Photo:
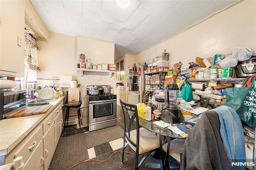
[[(65, 99), (64, 99), (64, 107), (66, 108), (66, 114), (65, 114), (64, 127), (62, 129), (62, 133), (64, 133), (65, 127), (68, 126), (68, 123), (76, 122), (76, 121), (78, 121), (79, 129), (81, 132), (81, 125), (82, 125), (81, 108), (80, 108), (81, 105), (82, 105), (82, 96), (81, 96), (81, 92), (79, 91), (79, 88), (69, 88), (69, 90), (66, 92)], [(70, 108), (76, 108), (78, 120), (68, 121), (68, 118), (70, 117), (69, 116)]]

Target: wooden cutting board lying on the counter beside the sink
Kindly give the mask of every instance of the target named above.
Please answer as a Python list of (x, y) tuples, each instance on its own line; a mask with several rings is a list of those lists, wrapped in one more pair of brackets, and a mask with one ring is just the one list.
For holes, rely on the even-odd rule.
[(6, 119), (15, 118), (15, 117), (32, 116), (32, 115), (42, 115), (42, 114), (45, 114), (51, 107), (52, 105), (24, 107), (23, 109), (20, 109), (6, 116)]

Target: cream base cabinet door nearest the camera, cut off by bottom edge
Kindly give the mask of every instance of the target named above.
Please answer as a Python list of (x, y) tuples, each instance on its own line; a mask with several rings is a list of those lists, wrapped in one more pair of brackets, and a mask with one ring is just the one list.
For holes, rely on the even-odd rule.
[(30, 155), (28, 161), (24, 164), (24, 170), (44, 170), (44, 153), (43, 141), (40, 140), (33, 154)]

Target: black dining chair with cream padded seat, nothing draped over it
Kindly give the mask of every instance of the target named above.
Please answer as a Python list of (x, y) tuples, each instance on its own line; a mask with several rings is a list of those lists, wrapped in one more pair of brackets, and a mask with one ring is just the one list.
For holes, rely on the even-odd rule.
[[(135, 170), (138, 170), (148, 155), (150, 155), (155, 149), (160, 148), (160, 140), (156, 134), (143, 127), (140, 128), (136, 105), (124, 103), (121, 99), (120, 103), (124, 115), (122, 163), (124, 163), (124, 150), (129, 144), (129, 146), (136, 152)], [(144, 153), (146, 153), (145, 156), (138, 164), (138, 156)]]

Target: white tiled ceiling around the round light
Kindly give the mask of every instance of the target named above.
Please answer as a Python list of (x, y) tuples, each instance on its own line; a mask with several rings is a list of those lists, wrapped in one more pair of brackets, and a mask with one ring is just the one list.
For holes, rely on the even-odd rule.
[(31, 0), (50, 32), (115, 44), (115, 59), (136, 54), (234, 0)]

